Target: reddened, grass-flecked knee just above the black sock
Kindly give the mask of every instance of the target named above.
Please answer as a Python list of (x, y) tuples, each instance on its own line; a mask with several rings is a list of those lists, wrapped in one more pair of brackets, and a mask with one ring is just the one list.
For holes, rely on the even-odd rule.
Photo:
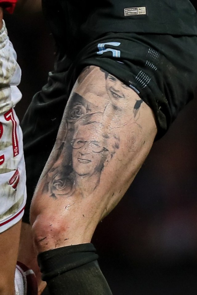
[(51, 214), (49, 211), (38, 214), (32, 223), (36, 252), (89, 243), (95, 230), (95, 222), (91, 220), (75, 212), (66, 216), (59, 212)]

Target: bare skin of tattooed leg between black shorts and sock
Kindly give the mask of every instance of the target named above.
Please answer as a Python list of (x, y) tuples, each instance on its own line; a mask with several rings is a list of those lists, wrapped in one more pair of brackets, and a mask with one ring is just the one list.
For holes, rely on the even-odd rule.
[[(106, 79), (98, 67), (91, 66), (89, 75), (93, 85), (105, 89)], [(98, 76), (102, 77), (98, 80)], [(82, 99), (79, 102), (72, 92), (32, 201), (31, 224), (37, 253), (91, 241), (98, 222), (117, 205), (135, 178), (157, 132), (153, 113), (144, 102), (137, 110), (137, 119), (131, 112), (140, 100), (132, 89), (125, 89), (126, 95), (121, 89), (121, 97), (114, 94), (113, 99), (118, 100), (117, 112), (107, 90), (104, 96), (99, 96), (97, 105), (93, 91), (84, 98), (83, 81), (74, 86), (74, 92)], [(112, 107), (106, 108), (109, 104)], [(88, 136), (85, 131), (84, 136), (79, 136), (82, 127)], [(82, 156), (76, 152), (82, 148), (87, 155), (84, 151)], [(95, 176), (96, 167), (99, 169), (95, 181), (91, 177)], [(87, 179), (91, 179), (91, 188)]]

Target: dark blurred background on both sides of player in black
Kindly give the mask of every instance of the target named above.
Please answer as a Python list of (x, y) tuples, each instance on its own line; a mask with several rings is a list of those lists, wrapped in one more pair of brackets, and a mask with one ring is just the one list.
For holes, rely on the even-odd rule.
[[(22, 68), (19, 119), (54, 61), (52, 36), (33, 1), (5, 16)], [(196, 108), (195, 99), (153, 145), (126, 195), (94, 234), (113, 295), (197, 294)]]

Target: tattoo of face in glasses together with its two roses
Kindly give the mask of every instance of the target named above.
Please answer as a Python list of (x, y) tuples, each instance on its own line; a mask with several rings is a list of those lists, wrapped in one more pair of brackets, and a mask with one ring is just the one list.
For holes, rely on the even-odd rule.
[[(64, 146), (59, 148), (61, 165), (52, 167), (48, 176), (51, 197), (72, 195), (89, 180), (89, 193), (99, 184), (104, 167), (119, 148), (119, 137), (103, 124), (103, 113), (91, 113), (92, 106), (74, 93), (68, 103), (66, 122), (68, 133)], [(57, 159), (58, 162), (58, 159)]]

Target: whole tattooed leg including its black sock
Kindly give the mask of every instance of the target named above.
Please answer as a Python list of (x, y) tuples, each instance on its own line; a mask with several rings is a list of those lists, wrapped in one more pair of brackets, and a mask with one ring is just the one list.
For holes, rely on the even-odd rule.
[(136, 92), (98, 67), (88, 75), (88, 91), (84, 76), (74, 86), (32, 203), (34, 241), (50, 294), (111, 294), (90, 241), (157, 132)]

